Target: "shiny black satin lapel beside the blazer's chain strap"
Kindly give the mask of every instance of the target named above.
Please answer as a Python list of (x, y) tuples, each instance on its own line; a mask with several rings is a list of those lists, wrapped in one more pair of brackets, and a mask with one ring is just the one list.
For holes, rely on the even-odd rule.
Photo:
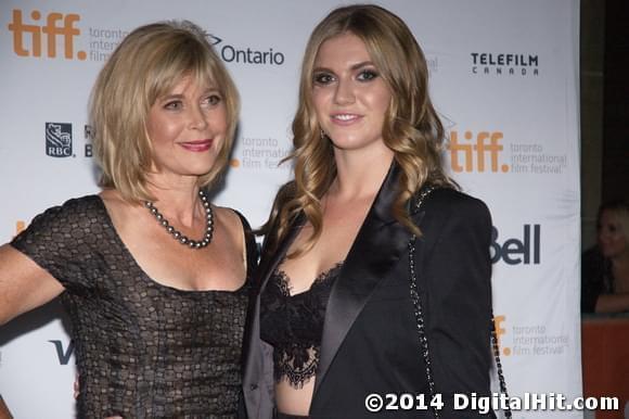
[(408, 245), (410, 232), (391, 214), (398, 172), (393, 164), (332, 288), (313, 397), (351, 325)]

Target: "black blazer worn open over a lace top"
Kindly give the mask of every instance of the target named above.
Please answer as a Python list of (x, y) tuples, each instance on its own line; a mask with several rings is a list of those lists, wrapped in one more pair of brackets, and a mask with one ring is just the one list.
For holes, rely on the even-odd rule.
[[(310, 406), (312, 418), (418, 418), (426, 410), (403, 410), (394, 396), (424, 394), (426, 366), (419, 344), (409, 289), (410, 231), (391, 214), (399, 168), (387, 174), (336, 279), (325, 312), (321, 357)], [(436, 392), (442, 418), (479, 417), (453, 411), (453, 393), (489, 394), (491, 220), (482, 201), (451, 189), (434, 191), (418, 211), (409, 212), (422, 230), (415, 246), (420, 299), (424, 309)], [(273, 254), (262, 252), (264, 290), (299, 231), (297, 219)], [(244, 403), (249, 419), (271, 418), (273, 379), (271, 347), (260, 340), (259, 294), (252, 308), (245, 347)], [(365, 409), (365, 396), (380, 394), (378, 414)], [(416, 396), (416, 397), (415, 397)], [(492, 414), (491, 414), (492, 415)]]

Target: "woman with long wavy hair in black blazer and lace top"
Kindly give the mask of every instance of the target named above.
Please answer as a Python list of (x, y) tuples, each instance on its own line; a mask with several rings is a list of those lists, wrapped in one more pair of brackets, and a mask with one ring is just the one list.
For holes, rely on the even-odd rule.
[(310, 36), (295, 178), (265, 227), (249, 418), (492, 415), (453, 408), (455, 393), (489, 394), (491, 220), (445, 174), (427, 80), (381, 7), (338, 8)]

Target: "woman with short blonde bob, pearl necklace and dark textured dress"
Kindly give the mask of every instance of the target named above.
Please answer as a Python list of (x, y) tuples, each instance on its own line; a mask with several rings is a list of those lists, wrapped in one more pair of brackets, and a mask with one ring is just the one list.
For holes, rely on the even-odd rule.
[(0, 323), (61, 294), (78, 417), (236, 415), (256, 245), (207, 187), (227, 166), (238, 102), (198, 26), (131, 31), (91, 98), (102, 192), (0, 247)]

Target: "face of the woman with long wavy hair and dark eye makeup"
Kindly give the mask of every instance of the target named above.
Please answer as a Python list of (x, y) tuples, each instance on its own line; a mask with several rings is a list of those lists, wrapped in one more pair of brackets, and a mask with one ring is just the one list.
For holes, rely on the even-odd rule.
[(391, 94), (359, 37), (345, 33), (323, 42), (312, 82), (317, 118), (336, 151), (386, 149), (382, 129)]

